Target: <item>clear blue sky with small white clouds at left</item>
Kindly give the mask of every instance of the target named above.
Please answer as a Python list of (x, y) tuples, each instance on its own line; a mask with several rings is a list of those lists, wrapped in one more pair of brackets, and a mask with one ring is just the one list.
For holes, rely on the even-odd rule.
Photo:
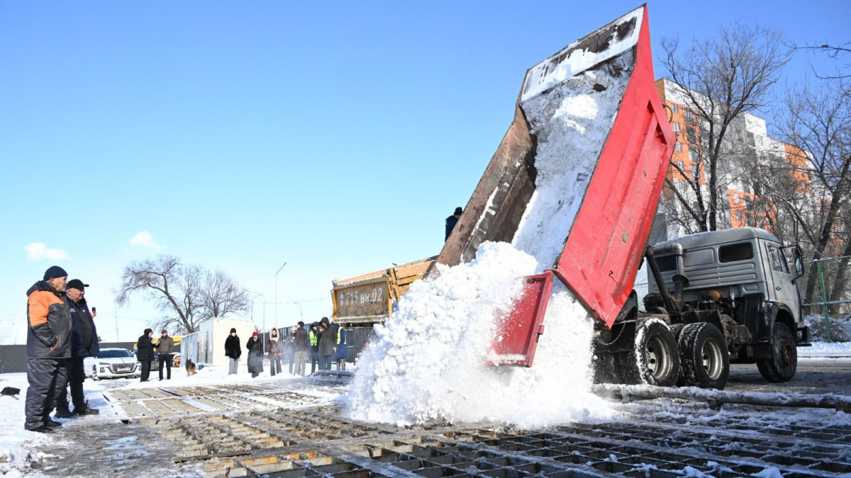
[[(526, 69), (635, 7), (0, 0), (0, 327), (55, 264), (103, 339), (134, 340), (156, 313), (113, 289), (157, 253), (262, 293), (260, 326), (264, 304), (266, 327), (330, 316), (333, 279), (439, 253)], [(851, 39), (847, 0), (648, 8), (655, 54), (736, 20)]]

